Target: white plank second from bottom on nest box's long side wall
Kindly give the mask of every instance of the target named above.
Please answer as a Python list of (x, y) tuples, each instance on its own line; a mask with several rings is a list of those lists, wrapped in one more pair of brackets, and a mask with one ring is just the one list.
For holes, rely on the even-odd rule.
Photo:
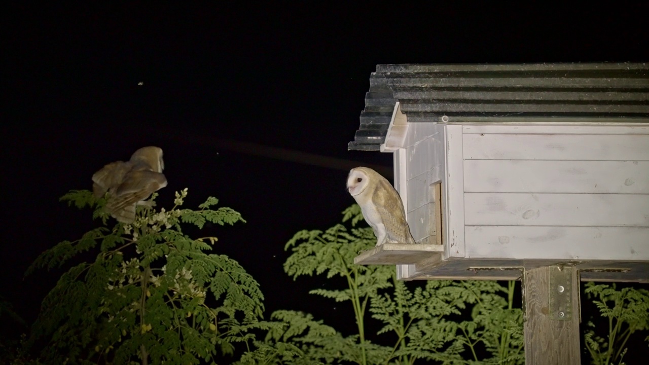
[(467, 193), (467, 225), (649, 227), (649, 194)]

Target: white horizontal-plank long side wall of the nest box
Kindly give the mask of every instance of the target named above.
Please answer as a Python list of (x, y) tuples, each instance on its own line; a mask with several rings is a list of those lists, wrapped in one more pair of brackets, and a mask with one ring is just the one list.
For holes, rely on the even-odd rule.
[(649, 260), (648, 127), (465, 125), (461, 145), (465, 257)]

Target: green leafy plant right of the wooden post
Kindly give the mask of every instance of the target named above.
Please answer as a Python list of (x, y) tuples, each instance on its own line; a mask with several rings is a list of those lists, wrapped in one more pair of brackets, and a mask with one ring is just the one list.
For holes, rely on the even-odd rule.
[[(649, 330), (649, 290), (622, 288), (615, 284), (586, 283), (585, 292), (602, 317), (608, 320), (608, 334), (597, 335), (593, 321), (584, 334), (585, 346), (596, 365), (624, 364), (622, 359), (631, 334)], [(649, 337), (645, 338), (649, 342)]]

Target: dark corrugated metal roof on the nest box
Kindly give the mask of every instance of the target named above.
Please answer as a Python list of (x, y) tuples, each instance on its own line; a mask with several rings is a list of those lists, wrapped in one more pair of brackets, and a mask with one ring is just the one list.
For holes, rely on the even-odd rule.
[(369, 81), (349, 149), (378, 150), (397, 101), (409, 122), (649, 121), (649, 63), (388, 64)]

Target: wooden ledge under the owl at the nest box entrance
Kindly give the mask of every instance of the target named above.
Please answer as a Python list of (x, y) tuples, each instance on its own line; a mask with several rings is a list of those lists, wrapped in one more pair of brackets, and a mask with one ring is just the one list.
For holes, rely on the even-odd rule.
[(441, 255), (444, 252), (443, 245), (425, 244), (383, 244), (354, 257), (354, 264), (357, 265), (402, 265), (416, 264), (421, 260)]

